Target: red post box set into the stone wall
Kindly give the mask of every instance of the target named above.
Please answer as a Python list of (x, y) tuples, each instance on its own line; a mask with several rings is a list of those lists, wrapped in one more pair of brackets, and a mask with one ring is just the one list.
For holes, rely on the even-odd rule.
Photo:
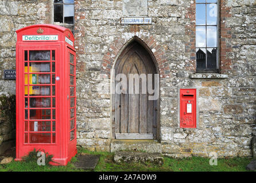
[(180, 128), (196, 128), (196, 89), (180, 89)]

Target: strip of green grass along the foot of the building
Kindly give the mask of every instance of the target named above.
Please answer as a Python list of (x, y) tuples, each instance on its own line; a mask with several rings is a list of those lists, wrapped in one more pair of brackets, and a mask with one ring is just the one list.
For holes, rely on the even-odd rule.
[(114, 153), (108, 152), (90, 152), (85, 149), (78, 149), (78, 153), (99, 154), (100, 159), (94, 170), (76, 169), (73, 165), (76, 162), (76, 157), (73, 157), (71, 162), (66, 166), (38, 166), (37, 161), (31, 158), (28, 161), (12, 161), (7, 165), (0, 165), (0, 172), (80, 172), (80, 171), (95, 171), (95, 172), (129, 172), (129, 171), (168, 171), (168, 172), (243, 172), (246, 170), (246, 165), (252, 160), (246, 157), (218, 159), (218, 165), (210, 165), (209, 158), (191, 157), (191, 158), (171, 158), (164, 157), (163, 165), (154, 165), (151, 163), (121, 163), (114, 162)]

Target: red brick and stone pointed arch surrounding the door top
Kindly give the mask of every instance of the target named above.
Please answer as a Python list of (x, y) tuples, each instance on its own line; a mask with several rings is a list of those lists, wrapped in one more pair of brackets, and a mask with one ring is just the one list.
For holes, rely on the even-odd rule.
[(123, 48), (126, 47), (127, 43), (131, 40), (139, 40), (145, 49), (150, 51), (155, 59), (156, 67), (158, 68), (158, 73), (160, 78), (170, 77), (170, 69), (167, 64), (167, 57), (165, 51), (157, 42), (157, 39), (151, 35), (148, 31), (141, 29), (138, 25), (130, 26), (129, 31), (123, 32), (120, 37), (115, 39), (108, 47), (108, 51), (103, 57), (101, 73), (107, 74), (110, 77), (110, 70), (113, 68), (115, 60), (118, 58), (119, 53), (122, 52)]

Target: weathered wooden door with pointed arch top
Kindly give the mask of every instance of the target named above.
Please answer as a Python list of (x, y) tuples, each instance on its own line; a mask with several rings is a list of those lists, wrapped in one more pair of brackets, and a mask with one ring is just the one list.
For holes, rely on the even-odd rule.
[[(156, 74), (156, 67), (148, 51), (137, 42), (130, 43), (115, 65), (115, 76), (118, 74), (126, 76), (127, 88), (122, 86), (122, 92), (114, 94), (115, 138), (156, 138), (157, 101), (149, 100), (148, 93), (148, 82), (152, 82), (154, 88), (154, 75), (152, 81), (148, 81), (148, 74)], [(135, 85), (136, 77), (139, 81), (137, 85)], [(116, 81), (115, 86), (117, 83)]]

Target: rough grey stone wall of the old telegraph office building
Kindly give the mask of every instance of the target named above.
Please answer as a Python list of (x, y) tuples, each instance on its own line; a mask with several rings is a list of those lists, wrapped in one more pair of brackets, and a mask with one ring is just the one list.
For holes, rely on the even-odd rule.
[[(15, 69), (13, 30), (51, 23), (51, 1), (7, 1), (9, 12), (5, 2), (0, 1), (0, 92), (13, 95), (15, 81), (2, 79), (4, 69)], [(140, 26), (120, 24), (125, 17), (122, 0), (75, 1), (77, 145), (111, 150), (111, 96), (98, 93), (98, 76), (110, 75), (118, 54), (136, 36), (158, 60), (161, 152), (187, 156), (180, 148), (191, 148), (199, 156), (212, 151), (219, 156), (251, 156), (256, 129), (256, 2), (220, 0), (219, 5), (220, 73), (226, 75), (195, 74), (195, 0), (148, 0), (152, 25)], [(179, 128), (179, 87), (199, 91), (196, 129)]]

